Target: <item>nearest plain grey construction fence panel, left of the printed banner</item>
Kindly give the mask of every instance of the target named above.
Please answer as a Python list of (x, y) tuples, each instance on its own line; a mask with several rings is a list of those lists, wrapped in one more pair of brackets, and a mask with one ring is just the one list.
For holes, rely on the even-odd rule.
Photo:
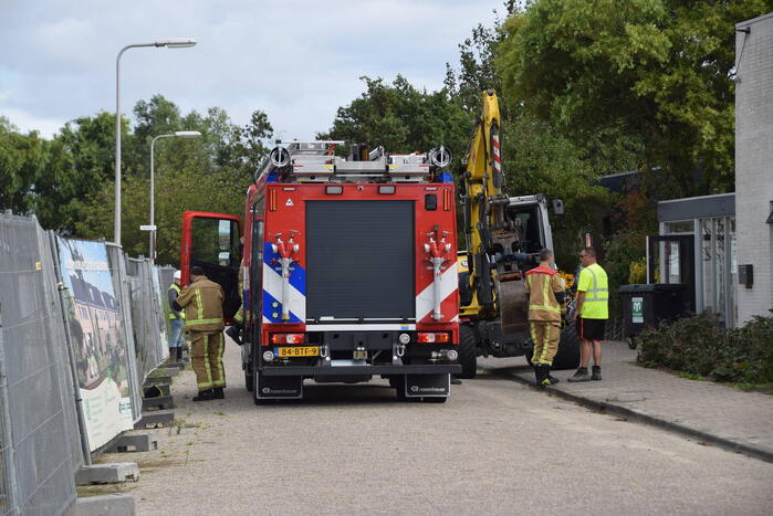
[[(74, 401), (51, 250), (34, 219), (0, 215), (4, 514), (62, 514), (75, 499)], [(67, 411), (71, 411), (69, 414)]]

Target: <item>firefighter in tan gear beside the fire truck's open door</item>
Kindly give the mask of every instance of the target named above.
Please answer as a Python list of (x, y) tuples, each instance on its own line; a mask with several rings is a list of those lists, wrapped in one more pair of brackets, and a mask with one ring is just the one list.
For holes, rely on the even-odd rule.
[(190, 285), (182, 288), (173, 307), (185, 308), (185, 328), (190, 333), (190, 359), (196, 372), (199, 393), (194, 401), (224, 398), (226, 371), (222, 351), (226, 348), (222, 330), (222, 287), (210, 281), (201, 267), (190, 267)]

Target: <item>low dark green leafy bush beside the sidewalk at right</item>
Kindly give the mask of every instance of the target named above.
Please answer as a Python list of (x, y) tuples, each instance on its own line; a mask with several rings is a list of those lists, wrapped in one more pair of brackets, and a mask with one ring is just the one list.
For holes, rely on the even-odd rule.
[(662, 324), (639, 336), (638, 360), (717, 381), (773, 381), (773, 317), (755, 317), (725, 329), (706, 313)]

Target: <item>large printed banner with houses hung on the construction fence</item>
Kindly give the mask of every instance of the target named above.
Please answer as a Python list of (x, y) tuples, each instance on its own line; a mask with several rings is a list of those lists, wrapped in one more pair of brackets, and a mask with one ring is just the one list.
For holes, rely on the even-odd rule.
[(103, 242), (58, 238), (91, 451), (134, 428), (121, 310)]

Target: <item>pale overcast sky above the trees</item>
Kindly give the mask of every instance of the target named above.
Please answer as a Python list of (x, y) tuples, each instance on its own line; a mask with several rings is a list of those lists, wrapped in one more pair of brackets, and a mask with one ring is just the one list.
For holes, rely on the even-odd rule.
[(130, 49), (121, 104), (160, 93), (184, 113), (223, 107), (238, 124), (262, 109), (283, 138), (326, 130), (359, 76), (442, 87), (446, 62), (502, 0), (0, 0), (0, 115), (50, 137), (115, 110), (126, 44), (194, 38), (191, 49)]

